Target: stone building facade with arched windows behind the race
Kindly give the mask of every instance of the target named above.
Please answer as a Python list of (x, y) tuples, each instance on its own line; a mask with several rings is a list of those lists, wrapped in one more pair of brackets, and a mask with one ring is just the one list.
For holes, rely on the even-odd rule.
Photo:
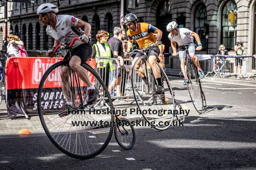
[[(92, 39), (99, 29), (112, 34), (120, 23), (121, 0), (36, 0), (35, 4), (8, 3), (8, 34), (20, 36), (26, 49), (48, 49), (53, 40), (45, 33), (36, 10), (42, 3), (53, 3), (58, 14), (70, 14), (87, 21), (92, 26)], [(127, 0), (125, 0), (125, 4)], [(0, 41), (3, 40), (3, 7), (0, 8)], [(245, 54), (256, 53), (256, 0), (140, 0), (137, 8), (125, 9), (140, 19), (163, 31), (163, 43), (169, 52), (170, 41), (166, 25), (174, 20), (179, 27), (197, 32), (202, 39), (202, 53), (216, 54), (220, 44), (233, 51), (241, 38)], [(209, 34), (204, 35), (204, 24), (209, 24)], [(208, 37), (208, 38), (207, 38)], [(232, 52), (231, 52), (232, 54)]]

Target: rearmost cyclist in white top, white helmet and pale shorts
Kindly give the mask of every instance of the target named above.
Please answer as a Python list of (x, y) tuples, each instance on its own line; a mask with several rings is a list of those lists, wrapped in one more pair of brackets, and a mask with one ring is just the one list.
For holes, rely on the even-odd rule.
[[(189, 83), (187, 74), (186, 74), (186, 70), (184, 70), (184, 62), (185, 60), (184, 58), (184, 52), (185, 52), (185, 48), (184, 47), (180, 47), (182, 45), (185, 44), (189, 44), (189, 43), (193, 43), (193, 40), (195, 38), (196, 42), (198, 43), (198, 47), (195, 48), (194, 45), (189, 45), (188, 47), (188, 51), (189, 51), (189, 56), (192, 58), (192, 61), (194, 62), (194, 64), (196, 65), (196, 67), (198, 68), (198, 74), (200, 79), (204, 78), (204, 71), (202, 71), (199, 61), (198, 61), (198, 57), (195, 56), (195, 50), (202, 50), (202, 44), (201, 44), (201, 40), (198, 34), (196, 34), (195, 32), (187, 29), (187, 28), (177, 28), (178, 25), (175, 21), (172, 21), (171, 23), (169, 23), (166, 27), (166, 30), (168, 32), (170, 32), (169, 34), (169, 39), (171, 40), (171, 46), (172, 46), (172, 50), (173, 50), (173, 56), (177, 56), (179, 54), (179, 58), (180, 58), (180, 68), (181, 71), (184, 75), (184, 82), (183, 85), (186, 85), (186, 83)], [(179, 45), (178, 48), (178, 53), (176, 50), (176, 44), (175, 42), (177, 42), (177, 44)], [(186, 68), (185, 68), (186, 69)]]

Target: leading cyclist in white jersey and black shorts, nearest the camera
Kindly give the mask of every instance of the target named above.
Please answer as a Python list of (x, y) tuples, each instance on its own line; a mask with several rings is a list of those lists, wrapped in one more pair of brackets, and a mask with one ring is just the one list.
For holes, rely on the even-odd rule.
[[(47, 57), (53, 57), (52, 53), (59, 44), (69, 45), (75, 37), (79, 40), (73, 45), (73, 54), (69, 56), (67, 50), (63, 51), (64, 60), (70, 59), (69, 65), (77, 75), (86, 83), (88, 89), (89, 105), (96, 102), (99, 91), (90, 82), (89, 76), (81, 64), (84, 64), (92, 54), (92, 46), (90, 44), (90, 30), (91, 26), (82, 20), (71, 15), (56, 15), (58, 12), (57, 6), (51, 3), (44, 3), (37, 9), (39, 20), (44, 26), (47, 26), (46, 31), (53, 37), (54, 45), (52, 49), (47, 51)], [(82, 30), (81, 28), (84, 28)], [(64, 108), (72, 106), (72, 98), (69, 93), (69, 68), (64, 66), (61, 68), (61, 86), (64, 92), (67, 103)]]

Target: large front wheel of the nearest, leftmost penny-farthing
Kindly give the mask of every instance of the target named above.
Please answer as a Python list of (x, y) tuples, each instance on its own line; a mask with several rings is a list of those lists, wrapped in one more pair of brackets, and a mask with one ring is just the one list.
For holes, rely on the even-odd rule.
[[(100, 84), (97, 103), (107, 101), (101, 110), (87, 105), (87, 85), (70, 67), (68, 82), (61, 81), (62, 67), (66, 65), (68, 61), (57, 62), (42, 77), (38, 88), (38, 113), (47, 136), (59, 150), (74, 158), (89, 159), (101, 153), (111, 139), (113, 125), (110, 121), (113, 122), (114, 116), (102, 114), (102, 110), (111, 111), (113, 104), (102, 79), (93, 68), (83, 64), (93, 85), (95, 81)], [(72, 101), (72, 107), (64, 107), (67, 99)]]

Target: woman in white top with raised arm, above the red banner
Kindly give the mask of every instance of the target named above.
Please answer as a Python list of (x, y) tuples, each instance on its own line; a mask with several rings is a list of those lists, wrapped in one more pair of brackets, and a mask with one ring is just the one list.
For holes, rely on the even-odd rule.
[(10, 34), (7, 36), (7, 55), (8, 57), (20, 57), (18, 45), (23, 46), (24, 43), (20, 41), (20, 38), (17, 35)]

